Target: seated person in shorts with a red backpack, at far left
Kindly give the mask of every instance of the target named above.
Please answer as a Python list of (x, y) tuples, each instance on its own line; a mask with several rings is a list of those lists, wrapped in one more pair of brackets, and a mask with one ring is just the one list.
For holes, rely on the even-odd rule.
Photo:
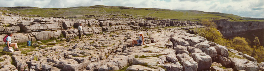
[(9, 36), (7, 37), (7, 42), (6, 42), (6, 45), (7, 45), (7, 47), (9, 48), (9, 49), (11, 49), (12, 48), (12, 46), (15, 46), (15, 51), (18, 51), (19, 49), (18, 49), (18, 47), (17, 47), (17, 43), (12, 43), (11, 42), (11, 37), (13, 36), (13, 33), (12, 32), (10, 32), (10, 34), (9, 34)]

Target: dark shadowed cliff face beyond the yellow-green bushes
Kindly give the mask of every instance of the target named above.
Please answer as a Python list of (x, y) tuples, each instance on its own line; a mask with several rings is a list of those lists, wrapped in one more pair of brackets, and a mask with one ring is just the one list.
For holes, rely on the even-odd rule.
[(216, 20), (217, 29), (225, 37), (238, 35), (244, 31), (264, 29), (264, 22), (230, 22), (227, 20)]

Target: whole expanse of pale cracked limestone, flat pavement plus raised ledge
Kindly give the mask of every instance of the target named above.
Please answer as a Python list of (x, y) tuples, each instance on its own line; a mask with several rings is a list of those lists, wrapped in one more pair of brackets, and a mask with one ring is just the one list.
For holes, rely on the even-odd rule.
[[(4, 59), (0, 62), (2, 67), (0, 70), (116, 71), (122, 68), (127, 68), (128, 71), (227, 70), (221, 69), (221, 66), (233, 68), (235, 71), (264, 69), (264, 64), (258, 64), (253, 57), (207, 41), (204, 37), (186, 33), (190, 28), (202, 27), (193, 26), (196, 22), (131, 18), (98, 20), (16, 16), (0, 18), (1, 23), (11, 24), (10, 27), (0, 26), (2, 34), (0, 37), (5, 36), (3, 33), (12, 31), (15, 33), (12, 42), (66, 37), (45, 44), (38, 41), (36, 44), (41, 44), (41, 47), (31, 49), (26, 54), (16, 51), (11, 55), (12, 58), (3, 55), (0, 57)], [(80, 23), (84, 30), (82, 40), (74, 38), (78, 34), (75, 28)], [(189, 27), (145, 29), (166, 26)], [(17, 29), (18, 27), (20, 29)], [(132, 47), (130, 43), (138, 37), (138, 32), (145, 34), (146, 45)], [(21, 50), (23, 49), (28, 48)], [(229, 57), (232, 56), (230, 52), (242, 59)], [(16, 66), (12, 65), (11, 61)], [(221, 64), (213, 66), (214, 61)]]

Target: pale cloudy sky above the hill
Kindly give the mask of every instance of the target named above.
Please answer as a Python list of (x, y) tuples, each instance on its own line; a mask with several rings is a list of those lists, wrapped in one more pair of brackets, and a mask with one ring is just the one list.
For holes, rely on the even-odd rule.
[(200, 10), (264, 18), (264, 0), (0, 0), (2, 7), (67, 8), (94, 5)]

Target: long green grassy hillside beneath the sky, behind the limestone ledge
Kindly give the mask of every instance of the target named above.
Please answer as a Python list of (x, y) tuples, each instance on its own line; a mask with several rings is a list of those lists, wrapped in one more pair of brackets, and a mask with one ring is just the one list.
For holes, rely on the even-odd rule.
[[(230, 21), (264, 21), (257, 18), (243, 18), (234, 14), (212, 13), (196, 10), (166, 10), (155, 8), (134, 8), (124, 6), (89, 6), (71, 8), (37, 8), (37, 7), (0, 7), (3, 12), (39, 15), (41, 17), (74, 17), (92, 14), (133, 14), (138, 17), (156, 19), (178, 19), (180, 21), (199, 21), (201, 19), (228, 19)], [(6, 11), (7, 10), (7, 11)], [(85, 19), (86, 17), (83, 17)]]

